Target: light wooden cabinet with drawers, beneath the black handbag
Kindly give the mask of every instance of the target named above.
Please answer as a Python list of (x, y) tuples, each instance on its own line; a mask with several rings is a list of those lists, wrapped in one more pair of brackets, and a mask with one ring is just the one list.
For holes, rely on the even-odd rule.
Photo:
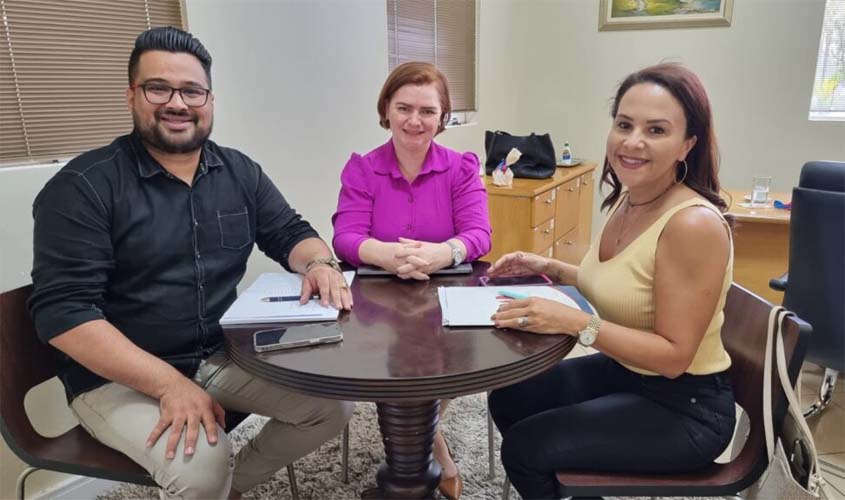
[(590, 248), (596, 164), (558, 168), (548, 179), (514, 179), (501, 187), (484, 177), (493, 249), (484, 260), (495, 262), (516, 250), (578, 264)]

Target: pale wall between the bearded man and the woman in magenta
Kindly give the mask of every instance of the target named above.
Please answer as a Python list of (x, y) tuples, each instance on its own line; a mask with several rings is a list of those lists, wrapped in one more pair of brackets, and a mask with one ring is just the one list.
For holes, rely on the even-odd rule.
[[(387, 72), (385, 4), (186, 3), (190, 31), (214, 58), (212, 138), (259, 162), (330, 239), (341, 168), (387, 137), (374, 111)], [(270, 269), (278, 266), (256, 251), (247, 279)]]

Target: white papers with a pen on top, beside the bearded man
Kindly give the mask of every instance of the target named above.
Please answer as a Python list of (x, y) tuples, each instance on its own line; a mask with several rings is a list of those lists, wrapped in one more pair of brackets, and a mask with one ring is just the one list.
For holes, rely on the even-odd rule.
[[(352, 284), (355, 271), (343, 273)], [(221, 325), (249, 323), (286, 323), (294, 321), (333, 321), (339, 311), (332, 306), (323, 307), (317, 299), (299, 303), (302, 275), (291, 273), (264, 273), (244, 290), (220, 318)]]

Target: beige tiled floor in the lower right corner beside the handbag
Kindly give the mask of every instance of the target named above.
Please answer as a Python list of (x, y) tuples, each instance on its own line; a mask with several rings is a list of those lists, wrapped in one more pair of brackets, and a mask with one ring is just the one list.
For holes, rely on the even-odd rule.
[[(805, 363), (801, 379), (801, 404), (804, 407), (818, 399), (824, 369)], [(836, 381), (830, 406), (820, 415), (807, 419), (813, 432), (816, 450), (825, 480), (845, 499), (845, 382), (842, 374)]]

